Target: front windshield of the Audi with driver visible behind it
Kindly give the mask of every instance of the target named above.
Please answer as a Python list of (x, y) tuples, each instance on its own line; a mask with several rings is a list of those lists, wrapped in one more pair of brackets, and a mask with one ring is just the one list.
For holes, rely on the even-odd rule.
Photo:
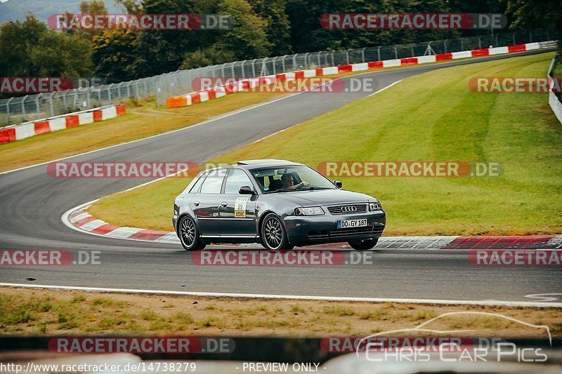
[(251, 173), (265, 193), (336, 189), (332, 182), (308, 166), (263, 168)]

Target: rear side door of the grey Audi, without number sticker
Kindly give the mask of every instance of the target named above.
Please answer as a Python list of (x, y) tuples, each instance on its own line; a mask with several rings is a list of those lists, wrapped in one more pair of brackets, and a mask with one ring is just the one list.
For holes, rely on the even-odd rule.
[(193, 196), (191, 208), (197, 219), (200, 235), (218, 237), (221, 227), (218, 222), (218, 204), (221, 202), (221, 188), (226, 169), (210, 171), (202, 182), (200, 192)]

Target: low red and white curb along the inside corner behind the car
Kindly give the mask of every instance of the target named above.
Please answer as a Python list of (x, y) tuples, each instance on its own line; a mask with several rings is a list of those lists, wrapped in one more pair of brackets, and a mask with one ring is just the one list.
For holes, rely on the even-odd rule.
[[(175, 232), (119, 227), (98, 220), (88, 213), (91, 201), (70, 209), (62, 216), (68, 227), (80, 232), (106, 236), (113, 239), (152, 241), (155, 243), (180, 244)], [(252, 246), (252, 245), (250, 245)], [(259, 245), (255, 245), (259, 246)], [(244, 245), (246, 247), (246, 245)], [(312, 246), (311, 246), (312, 247)], [(346, 243), (330, 243), (315, 248), (350, 248)], [(259, 247), (261, 248), (261, 247)], [(562, 249), (562, 235), (528, 236), (384, 236), (377, 249), (414, 249), (469, 251), (473, 249)]]

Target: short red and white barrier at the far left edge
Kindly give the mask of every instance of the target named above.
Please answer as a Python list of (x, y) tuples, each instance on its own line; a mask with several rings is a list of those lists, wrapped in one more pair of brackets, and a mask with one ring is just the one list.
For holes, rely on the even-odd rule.
[(110, 105), (108, 107), (89, 109), (84, 112), (69, 113), (63, 116), (6, 126), (0, 128), (0, 144), (15, 142), (15, 140), (22, 140), (44, 133), (52, 133), (65, 128), (105, 121), (106, 119), (122, 116), (125, 112), (125, 105)]

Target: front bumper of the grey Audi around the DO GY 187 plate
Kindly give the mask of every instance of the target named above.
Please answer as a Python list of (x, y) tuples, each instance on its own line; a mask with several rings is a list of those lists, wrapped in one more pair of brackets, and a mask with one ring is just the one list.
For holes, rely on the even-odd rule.
[[(338, 220), (360, 220), (367, 218), (367, 227), (338, 229)], [(367, 213), (342, 215), (287, 215), (283, 218), (289, 241), (294, 246), (337, 243), (354, 239), (378, 238), (386, 226), (386, 213), (373, 211)]]

